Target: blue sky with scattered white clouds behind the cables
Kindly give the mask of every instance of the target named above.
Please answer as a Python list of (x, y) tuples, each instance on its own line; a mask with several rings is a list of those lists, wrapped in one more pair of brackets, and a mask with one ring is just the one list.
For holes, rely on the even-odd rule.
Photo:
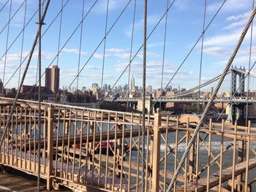
[[(134, 9), (135, 0), (109, 0), (108, 36), (105, 39), (105, 43), (107, 0), (98, 0), (94, 4), (95, 1), (97, 0), (85, 0), (83, 12), (83, 0), (63, 0), (65, 7), (62, 12), (61, 26), (61, 14), (59, 12), (62, 0), (50, 1), (45, 17), (45, 25), (42, 26), (42, 34), (44, 34), (42, 37), (42, 72), (46, 67), (58, 64), (61, 69), (60, 87), (70, 86), (73, 88), (77, 84), (75, 77), (78, 75), (79, 66), (78, 88), (84, 86), (91, 88), (91, 83), (93, 82), (97, 82), (100, 86), (105, 45), (103, 84), (113, 86), (123, 72), (124, 74), (116, 85), (127, 84), (129, 68), (126, 71), (124, 69), (130, 61), (132, 20), (135, 12), (134, 38), (132, 42), (132, 58), (134, 59), (131, 62), (130, 74), (135, 77), (135, 85), (141, 86), (143, 79), (143, 50), (139, 49), (143, 45), (143, 0), (136, 1), (136, 9)], [(252, 12), (252, 1), (227, 0), (217, 17), (207, 28), (203, 41), (201, 82), (206, 82), (212, 77), (216, 77), (225, 68), (225, 64), (232, 54), (241, 31)], [(6, 2), (7, 0), (0, 0), (0, 10)], [(171, 2), (173, 1), (169, 0), (168, 4), (170, 5)], [(208, 26), (222, 2), (222, 0), (207, 1), (206, 26)], [(7, 88), (18, 87), (19, 70), (15, 74), (14, 72), (20, 65), (25, 4), (26, 0), (12, 0), (12, 20), (10, 21), (9, 36), (7, 31), (10, 1), (0, 12), (0, 78), (4, 79), (4, 84), (8, 82)], [(124, 9), (126, 6), (127, 9)], [(24, 66), (27, 63), (26, 56), (31, 50), (38, 28), (37, 7), (37, 0), (27, 0), (21, 74), (23, 74)], [(153, 28), (165, 14), (166, 7), (167, 0), (148, 0), (147, 34), (151, 34)], [(178, 66), (183, 63), (189, 50), (192, 49), (202, 34), (204, 9), (205, 1), (203, 0), (174, 1), (167, 12), (167, 21), (165, 22), (166, 17), (164, 15), (157, 28), (148, 37), (146, 85), (152, 85), (153, 88), (161, 87), (162, 64), (164, 64), (162, 86), (165, 87), (167, 85), (167, 82), (173, 77)], [(81, 30), (82, 14), (86, 15), (86, 18), (83, 20), (83, 29)], [(118, 18), (120, 14), (121, 16)], [(118, 20), (116, 21), (117, 18)], [(113, 23), (116, 24), (113, 25)], [(59, 34), (61, 34), (60, 38)], [(238, 55), (233, 61), (234, 66), (244, 66), (248, 69), (250, 36), (249, 31)], [(252, 62), (256, 61), (255, 37), (256, 33), (253, 31)], [(200, 39), (181, 66), (181, 69), (179, 69), (178, 74), (170, 82), (170, 85), (173, 87), (180, 85), (182, 88), (192, 88), (198, 85), (201, 43)], [(163, 57), (164, 44), (165, 57)], [(7, 50), (6, 47), (8, 47), (8, 51), (7, 54), (4, 54)], [(57, 56), (58, 47), (61, 49), (59, 59)], [(136, 53), (138, 54), (135, 55)], [(25, 85), (34, 85), (37, 81), (37, 56), (38, 47), (35, 48), (29, 71), (26, 74)], [(4, 65), (6, 66), (5, 75)], [(256, 70), (252, 71), (256, 72)], [(12, 74), (14, 76), (10, 78)], [(230, 85), (229, 81), (227, 78), (223, 86), (228, 87)], [(251, 84), (255, 86), (256, 82), (254, 80), (251, 81)], [(44, 83), (45, 76), (42, 76), (42, 85)]]

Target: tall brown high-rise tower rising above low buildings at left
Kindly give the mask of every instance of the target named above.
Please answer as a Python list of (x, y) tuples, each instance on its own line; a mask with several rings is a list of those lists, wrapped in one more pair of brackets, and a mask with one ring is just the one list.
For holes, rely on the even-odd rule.
[(45, 87), (48, 93), (59, 92), (59, 67), (53, 65), (52, 68), (45, 69)]

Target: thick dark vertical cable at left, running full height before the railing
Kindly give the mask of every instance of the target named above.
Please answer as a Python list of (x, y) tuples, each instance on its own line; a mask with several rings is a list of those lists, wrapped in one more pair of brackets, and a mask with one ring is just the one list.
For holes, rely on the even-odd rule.
[[(42, 16), (41, 16), (41, 0), (38, 0), (38, 168), (37, 168), (37, 191), (40, 191), (40, 172), (41, 172), (41, 29), (42, 29)], [(36, 89), (36, 88), (35, 88)], [(49, 130), (48, 130), (49, 131)]]

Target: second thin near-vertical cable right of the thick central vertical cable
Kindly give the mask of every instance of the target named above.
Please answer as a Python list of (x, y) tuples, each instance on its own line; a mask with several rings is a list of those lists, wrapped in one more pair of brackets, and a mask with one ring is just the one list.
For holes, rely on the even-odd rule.
[(205, 9), (203, 13), (203, 31), (202, 31), (202, 43), (201, 43), (201, 55), (200, 55), (200, 69), (199, 69), (199, 88), (198, 88), (198, 102), (197, 102), (197, 115), (199, 115), (199, 108), (200, 108), (200, 85), (201, 85), (201, 76), (202, 76), (202, 64), (203, 64), (203, 40), (204, 40), (204, 34), (205, 34), (205, 27), (206, 27), (206, 7), (207, 7), (207, 0), (205, 1)]

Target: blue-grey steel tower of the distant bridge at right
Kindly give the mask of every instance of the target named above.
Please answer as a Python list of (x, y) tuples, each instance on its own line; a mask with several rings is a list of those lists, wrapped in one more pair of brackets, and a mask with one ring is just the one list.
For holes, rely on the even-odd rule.
[[(240, 69), (235, 67), (231, 67), (230, 75), (231, 75), (231, 83), (230, 83), (230, 97), (231, 96), (245, 96), (246, 93), (244, 91), (244, 72), (246, 70), (243, 68)], [(240, 85), (240, 87), (239, 87)], [(238, 89), (238, 91), (236, 91)], [(228, 110), (228, 118), (230, 122), (233, 124), (237, 120), (238, 125), (244, 126), (245, 125), (245, 119), (244, 119), (244, 104), (241, 103), (230, 103)]]

